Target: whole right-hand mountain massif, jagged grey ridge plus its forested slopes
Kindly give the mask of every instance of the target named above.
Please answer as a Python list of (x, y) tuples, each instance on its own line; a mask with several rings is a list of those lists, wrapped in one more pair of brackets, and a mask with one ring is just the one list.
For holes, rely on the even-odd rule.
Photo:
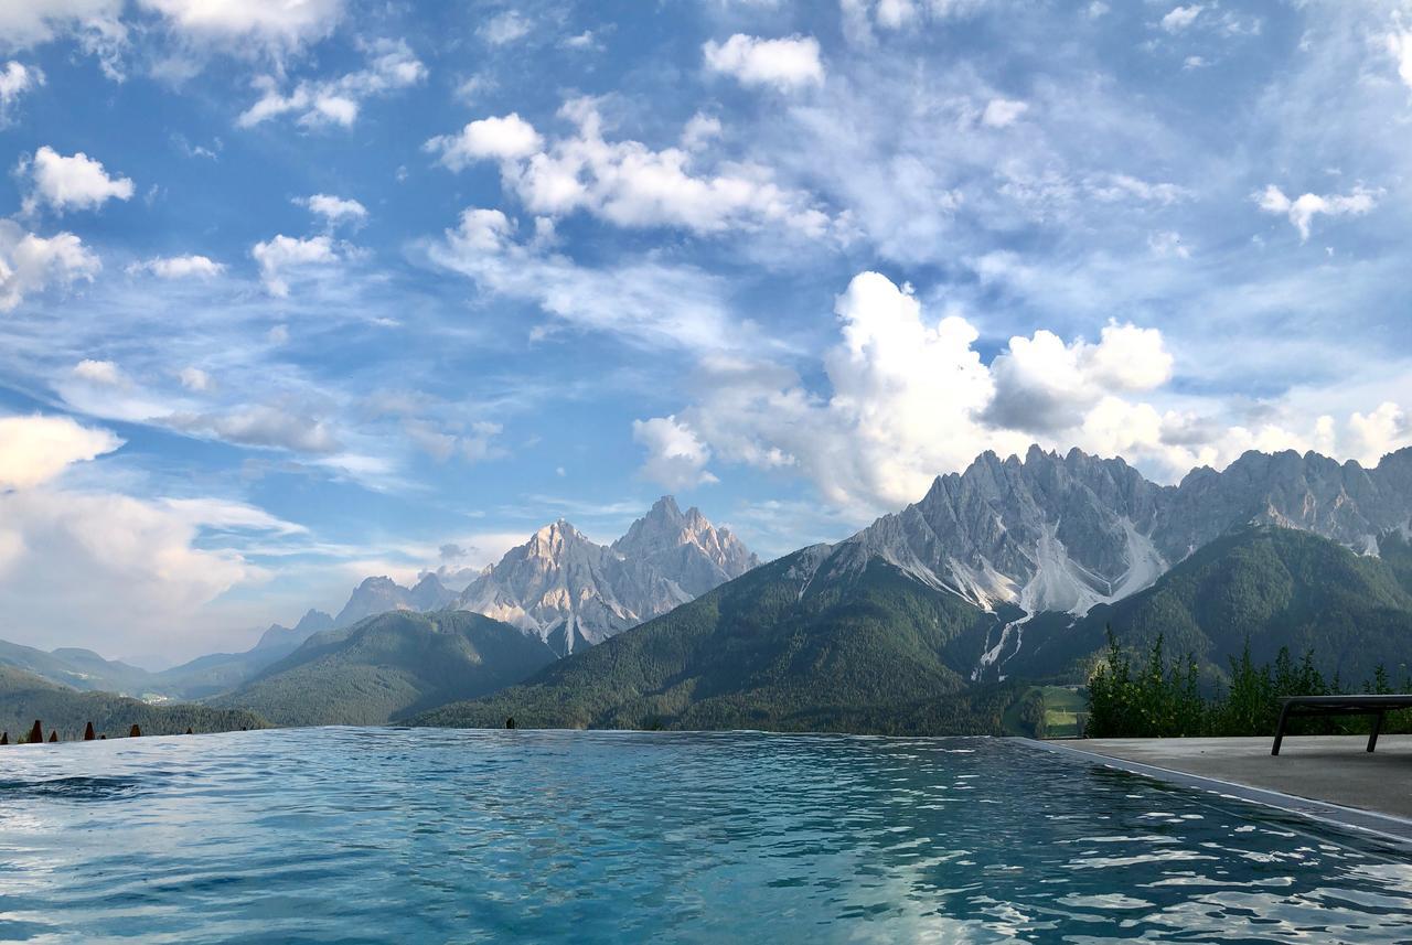
[(1409, 533), (1412, 450), (1372, 470), (1247, 453), (1176, 487), (1077, 450), (984, 454), (839, 544), (418, 721), (969, 728), (957, 694), (1082, 681), (1110, 623), (1130, 646), (1162, 633), (1216, 673), (1247, 639), (1257, 659), (1312, 647), (1357, 683), (1412, 663)]

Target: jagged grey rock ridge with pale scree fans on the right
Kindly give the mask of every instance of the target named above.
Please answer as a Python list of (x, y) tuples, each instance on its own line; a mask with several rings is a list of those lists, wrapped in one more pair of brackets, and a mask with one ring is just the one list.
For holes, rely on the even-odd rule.
[(1278, 525), (1375, 553), (1412, 522), (1412, 449), (1364, 470), (1293, 451), (1245, 453), (1223, 472), (1193, 470), (1176, 487), (1121, 458), (1031, 447), (1024, 460), (980, 456), (938, 477), (921, 502), (887, 515), (820, 563), (843, 578), (881, 559), (983, 608), (1087, 614), (1151, 585), (1226, 532)]

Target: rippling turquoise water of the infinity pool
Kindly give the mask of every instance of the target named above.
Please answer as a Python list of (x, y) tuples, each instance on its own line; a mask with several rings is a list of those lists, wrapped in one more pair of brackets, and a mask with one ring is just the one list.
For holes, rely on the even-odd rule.
[(0, 939), (1406, 942), (1412, 866), (997, 739), (0, 749)]

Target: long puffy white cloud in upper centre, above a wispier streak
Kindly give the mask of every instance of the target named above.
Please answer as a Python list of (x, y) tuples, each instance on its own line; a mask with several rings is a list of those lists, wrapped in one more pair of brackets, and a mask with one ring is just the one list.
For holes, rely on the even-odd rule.
[(696, 157), (682, 148), (654, 151), (640, 141), (607, 141), (593, 99), (568, 102), (559, 116), (578, 133), (548, 145), (511, 113), (472, 121), (425, 147), (452, 169), (476, 159), (498, 161), (504, 185), (537, 214), (586, 210), (623, 227), (675, 226), (696, 233), (767, 223), (808, 237), (833, 230), (808, 195), (778, 186), (762, 168), (698, 171)]

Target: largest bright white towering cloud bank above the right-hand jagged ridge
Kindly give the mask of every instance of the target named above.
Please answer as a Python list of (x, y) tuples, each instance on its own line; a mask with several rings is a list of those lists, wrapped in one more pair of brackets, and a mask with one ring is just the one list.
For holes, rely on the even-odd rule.
[[(696, 403), (634, 425), (648, 453), (644, 472), (665, 481), (705, 472), (707, 461), (792, 471), (861, 516), (916, 501), (933, 477), (987, 449), (1022, 454), (1036, 441), (1125, 456), (1168, 480), (1250, 449), (1332, 450), (1332, 433), (1228, 425), (1138, 399), (1173, 377), (1156, 329), (1111, 322), (1097, 341), (1038, 330), (1011, 339), (987, 365), (967, 319), (928, 316), (907, 288), (875, 272), (853, 278), (834, 315), (840, 340), (823, 357), (823, 392), (758, 357), (706, 355)], [(1391, 408), (1354, 417), (1350, 436), (1367, 430), (1367, 454), (1387, 449), (1405, 426), (1399, 417)]]

